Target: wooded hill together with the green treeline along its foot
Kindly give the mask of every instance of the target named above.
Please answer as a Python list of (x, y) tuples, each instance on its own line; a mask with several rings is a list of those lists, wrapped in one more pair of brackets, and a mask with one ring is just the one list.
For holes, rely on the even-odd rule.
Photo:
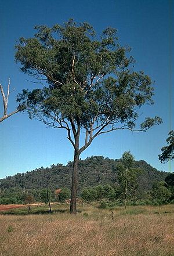
[[(25, 203), (28, 194), (34, 201), (46, 201), (46, 181), (48, 181), (49, 197), (51, 201), (64, 201), (70, 197), (72, 162), (66, 166), (51, 165), (49, 168), (38, 168), (23, 174), (8, 176), (0, 180), (0, 203)], [(130, 183), (128, 199), (154, 200), (155, 188), (167, 188), (165, 181), (167, 172), (158, 171), (146, 161), (134, 161), (132, 170), (134, 178)], [(85, 201), (98, 199), (122, 200), (124, 182), (120, 176), (120, 160), (112, 160), (103, 156), (87, 157), (79, 161), (78, 197)], [(131, 176), (130, 176), (131, 182)], [(59, 196), (56, 189), (62, 189)], [(163, 191), (164, 192), (164, 191)], [(162, 193), (162, 192), (161, 192)], [(166, 200), (171, 194), (166, 193)], [(168, 195), (167, 195), (168, 194)], [(158, 195), (159, 196), (159, 195)], [(162, 197), (161, 197), (162, 198)]]

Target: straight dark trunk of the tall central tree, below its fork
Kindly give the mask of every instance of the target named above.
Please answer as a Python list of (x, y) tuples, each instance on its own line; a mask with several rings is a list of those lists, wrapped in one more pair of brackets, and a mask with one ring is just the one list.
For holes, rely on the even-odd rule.
[(78, 162), (79, 162), (79, 150), (74, 150), (74, 162), (73, 162), (73, 180), (71, 188), (71, 203), (70, 213), (77, 214), (76, 209), (76, 197), (77, 197), (77, 182), (78, 182)]

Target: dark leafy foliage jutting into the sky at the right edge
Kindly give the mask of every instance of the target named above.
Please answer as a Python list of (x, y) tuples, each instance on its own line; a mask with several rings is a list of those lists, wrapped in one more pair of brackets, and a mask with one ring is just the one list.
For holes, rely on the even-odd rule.
[(170, 131), (168, 135), (166, 139), (168, 146), (162, 147), (162, 153), (158, 155), (161, 163), (174, 159), (174, 131)]

